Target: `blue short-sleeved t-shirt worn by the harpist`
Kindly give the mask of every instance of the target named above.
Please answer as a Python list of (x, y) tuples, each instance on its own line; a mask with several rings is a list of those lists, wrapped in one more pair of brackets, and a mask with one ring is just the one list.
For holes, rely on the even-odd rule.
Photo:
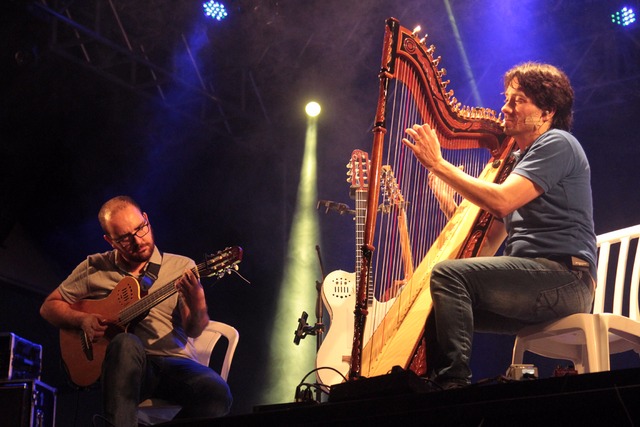
[(569, 132), (551, 129), (520, 154), (512, 173), (535, 182), (544, 193), (504, 218), (505, 255), (577, 256), (594, 270), (591, 169), (582, 146)]

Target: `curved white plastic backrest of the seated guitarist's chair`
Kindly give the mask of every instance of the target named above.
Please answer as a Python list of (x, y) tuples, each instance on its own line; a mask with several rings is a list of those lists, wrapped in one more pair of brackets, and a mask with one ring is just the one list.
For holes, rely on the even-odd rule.
[(221, 336), (225, 337), (228, 341), (227, 351), (225, 352), (222, 367), (220, 368), (220, 376), (226, 381), (229, 377), (231, 361), (233, 360), (233, 355), (238, 346), (238, 340), (240, 339), (240, 334), (236, 328), (226, 323), (211, 320), (204, 331), (202, 331), (202, 334), (197, 338), (190, 338), (190, 342), (198, 362), (209, 366), (211, 353)]

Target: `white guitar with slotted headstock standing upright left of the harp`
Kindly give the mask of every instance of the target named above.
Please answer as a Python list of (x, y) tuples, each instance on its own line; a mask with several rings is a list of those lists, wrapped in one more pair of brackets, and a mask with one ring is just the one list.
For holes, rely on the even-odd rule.
[[(347, 176), (351, 182), (350, 193), (356, 200), (356, 271), (360, 265), (364, 243), (364, 225), (367, 215), (367, 153), (354, 150), (351, 154)], [(336, 270), (327, 275), (322, 283), (322, 299), (329, 318), (329, 331), (318, 349), (316, 372), (320, 384), (330, 386), (344, 381), (349, 372), (351, 348), (353, 346), (354, 319), (356, 306), (356, 273)], [(341, 375), (342, 374), (342, 375)]]

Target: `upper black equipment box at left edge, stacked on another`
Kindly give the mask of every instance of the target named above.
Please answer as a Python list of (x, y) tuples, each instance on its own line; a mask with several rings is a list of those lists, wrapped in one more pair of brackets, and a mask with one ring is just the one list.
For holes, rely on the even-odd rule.
[(12, 332), (0, 333), (0, 380), (40, 379), (42, 346)]

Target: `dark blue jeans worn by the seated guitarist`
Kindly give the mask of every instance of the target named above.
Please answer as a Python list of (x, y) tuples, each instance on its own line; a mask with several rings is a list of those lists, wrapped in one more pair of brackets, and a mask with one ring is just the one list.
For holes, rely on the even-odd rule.
[(105, 419), (117, 427), (137, 427), (138, 404), (149, 397), (182, 406), (176, 418), (220, 417), (232, 403), (229, 386), (213, 369), (182, 357), (147, 356), (130, 333), (107, 347), (102, 393)]

